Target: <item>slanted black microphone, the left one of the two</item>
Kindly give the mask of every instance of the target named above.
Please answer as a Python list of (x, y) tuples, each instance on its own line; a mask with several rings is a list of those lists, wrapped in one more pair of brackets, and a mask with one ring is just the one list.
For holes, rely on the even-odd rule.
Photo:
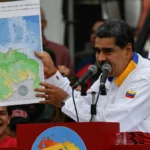
[(78, 85), (81, 85), (83, 82), (85, 82), (90, 76), (96, 74), (98, 71), (97, 66), (91, 65), (88, 67), (88, 71), (82, 76), (73, 86), (73, 89), (76, 89)]

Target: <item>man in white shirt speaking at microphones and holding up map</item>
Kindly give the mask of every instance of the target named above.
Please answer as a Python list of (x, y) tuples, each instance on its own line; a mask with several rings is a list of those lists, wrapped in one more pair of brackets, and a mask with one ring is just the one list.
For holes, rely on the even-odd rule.
[[(112, 71), (106, 81), (107, 95), (100, 95), (93, 121), (119, 122), (120, 131), (150, 132), (150, 61), (134, 52), (134, 36), (122, 20), (107, 20), (96, 31), (95, 54), (99, 67), (109, 63)], [(44, 64), (45, 88), (38, 88), (37, 97), (46, 98), (41, 103), (61, 107), (62, 111), (77, 121), (69, 81), (54, 67), (46, 53), (38, 54)], [(51, 65), (47, 65), (51, 64)], [(81, 96), (74, 91), (79, 121), (91, 119), (92, 92), (97, 97), (100, 78)], [(64, 102), (65, 101), (65, 102)], [(63, 102), (63, 103), (62, 103)]]

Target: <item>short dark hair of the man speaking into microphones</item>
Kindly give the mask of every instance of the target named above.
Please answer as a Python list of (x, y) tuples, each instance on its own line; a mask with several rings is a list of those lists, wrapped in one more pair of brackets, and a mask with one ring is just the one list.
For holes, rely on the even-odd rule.
[(134, 51), (134, 34), (129, 25), (123, 20), (106, 20), (97, 30), (96, 37), (114, 37), (115, 44), (124, 48), (128, 43), (132, 44)]

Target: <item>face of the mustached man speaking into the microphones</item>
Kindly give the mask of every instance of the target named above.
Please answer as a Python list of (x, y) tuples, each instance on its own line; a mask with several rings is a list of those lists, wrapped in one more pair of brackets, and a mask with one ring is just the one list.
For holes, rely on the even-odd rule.
[(123, 49), (115, 45), (115, 38), (98, 38), (95, 41), (96, 61), (101, 65), (108, 62), (112, 66), (109, 76), (118, 77), (130, 62), (133, 52), (132, 44), (128, 43)]

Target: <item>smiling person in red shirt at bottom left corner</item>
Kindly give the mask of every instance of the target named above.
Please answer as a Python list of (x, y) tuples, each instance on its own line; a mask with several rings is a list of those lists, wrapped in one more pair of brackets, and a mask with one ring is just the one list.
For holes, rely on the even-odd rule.
[(0, 106), (0, 148), (17, 147), (16, 138), (8, 135), (11, 111), (9, 106)]

